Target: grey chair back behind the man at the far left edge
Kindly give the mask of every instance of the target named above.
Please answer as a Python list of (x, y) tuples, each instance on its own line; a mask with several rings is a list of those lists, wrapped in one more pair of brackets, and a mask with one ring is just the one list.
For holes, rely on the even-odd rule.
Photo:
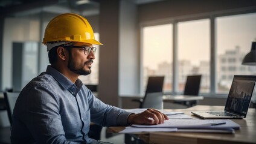
[(13, 124), (13, 119), (12, 119), (13, 109), (18, 96), (19, 96), (19, 92), (4, 92), (4, 100), (6, 104), (10, 125)]

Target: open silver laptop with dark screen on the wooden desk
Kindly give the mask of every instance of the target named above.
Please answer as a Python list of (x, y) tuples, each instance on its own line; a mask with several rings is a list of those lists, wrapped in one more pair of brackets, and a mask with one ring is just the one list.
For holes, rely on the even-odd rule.
[(235, 75), (224, 110), (191, 112), (203, 119), (246, 118), (256, 76)]

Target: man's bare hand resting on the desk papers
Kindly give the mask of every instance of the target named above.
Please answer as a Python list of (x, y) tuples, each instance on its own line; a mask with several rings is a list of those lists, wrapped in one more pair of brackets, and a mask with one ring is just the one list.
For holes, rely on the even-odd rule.
[(163, 124), (165, 119), (168, 119), (168, 117), (164, 113), (161, 113), (156, 109), (147, 109), (144, 112), (130, 115), (127, 122), (129, 124), (153, 125)]

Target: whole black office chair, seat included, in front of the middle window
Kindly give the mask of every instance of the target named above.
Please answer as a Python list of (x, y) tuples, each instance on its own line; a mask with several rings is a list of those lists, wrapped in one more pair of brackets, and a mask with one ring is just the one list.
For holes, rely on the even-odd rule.
[[(190, 75), (187, 76), (187, 81), (184, 88), (184, 95), (199, 95), (200, 83), (202, 75)], [(195, 106), (197, 101), (181, 101), (175, 102), (178, 104), (183, 104), (187, 107)]]

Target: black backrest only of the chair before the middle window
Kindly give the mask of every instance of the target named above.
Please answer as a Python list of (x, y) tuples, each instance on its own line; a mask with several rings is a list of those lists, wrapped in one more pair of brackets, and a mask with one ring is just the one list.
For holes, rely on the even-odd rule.
[(198, 95), (202, 75), (187, 76), (184, 95)]

